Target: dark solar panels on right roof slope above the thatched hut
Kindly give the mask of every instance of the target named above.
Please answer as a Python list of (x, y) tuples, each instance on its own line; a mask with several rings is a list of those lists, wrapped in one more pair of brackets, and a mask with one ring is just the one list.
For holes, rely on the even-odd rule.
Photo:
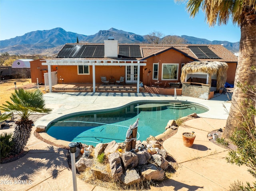
[(213, 51), (207, 46), (188, 46), (188, 48), (196, 55), (199, 59), (220, 59)]

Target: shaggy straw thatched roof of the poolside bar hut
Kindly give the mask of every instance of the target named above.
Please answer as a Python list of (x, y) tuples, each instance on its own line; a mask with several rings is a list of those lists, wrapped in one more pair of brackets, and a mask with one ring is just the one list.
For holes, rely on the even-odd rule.
[(208, 83), (211, 84), (212, 75), (217, 74), (217, 90), (219, 90), (226, 83), (227, 70), (228, 70), (228, 64), (226, 62), (194, 61), (194, 62), (187, 63), (182, 67), (182, 74), (181, 74), (180, 80), (184, 82), (186, 74), (198, 73), (198, 72), (208, 73), (209, 74)]

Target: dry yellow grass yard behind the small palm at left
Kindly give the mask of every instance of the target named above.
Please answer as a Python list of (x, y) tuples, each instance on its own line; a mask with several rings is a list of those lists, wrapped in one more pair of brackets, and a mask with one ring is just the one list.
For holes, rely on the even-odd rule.
[[(37, 88), (37, 85), (35, 83), (31, 83), (30, 78), (1, 80), (0, 81), (0, 105), (1, 106), (6, 101), (10, 101), (10, 95), (15, 91), (14, 82), (16, 82), (17, 88), (18, 87), (22, 87), (24, 89)], [(40, 86), (40, 89), (44, 91), (44, 86)], [(1, 110), (1, 112), (3, 111)]]

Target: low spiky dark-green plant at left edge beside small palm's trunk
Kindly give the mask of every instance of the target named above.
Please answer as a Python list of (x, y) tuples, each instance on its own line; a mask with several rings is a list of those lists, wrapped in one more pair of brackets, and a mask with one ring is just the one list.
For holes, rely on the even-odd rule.
[(12, 132), (3, 132), (0, 135), (0, 156), (6, 158), (12, 152), (14, 142), (12, 140)]

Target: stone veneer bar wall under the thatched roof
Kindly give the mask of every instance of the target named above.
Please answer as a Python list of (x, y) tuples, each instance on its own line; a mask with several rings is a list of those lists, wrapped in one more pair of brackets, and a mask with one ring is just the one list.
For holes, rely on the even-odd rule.
[(210, 88), (211, 85), (209, 84), (182, 82), (182, 95), (197, 97), (201, 99), (209, 99)]

